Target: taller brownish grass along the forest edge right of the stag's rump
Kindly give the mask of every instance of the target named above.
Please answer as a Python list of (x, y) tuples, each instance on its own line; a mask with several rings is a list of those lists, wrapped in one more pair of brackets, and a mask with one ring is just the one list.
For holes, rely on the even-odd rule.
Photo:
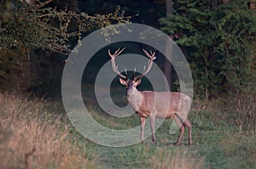
[(256, 134), (256, 95), (232, 95), (212, 99), (202, 104), (194, 100), (195, 112), (210, 112), (212, 122), (231, 127), (236, 126), (241, 133)]

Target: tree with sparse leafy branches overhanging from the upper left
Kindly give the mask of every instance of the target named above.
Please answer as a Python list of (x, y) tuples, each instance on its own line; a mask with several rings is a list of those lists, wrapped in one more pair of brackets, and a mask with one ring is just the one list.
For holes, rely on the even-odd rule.
[[(29, 3), (27, 3), (29, 2)], [(33, 3), (31, 3), (33, 2)], [(70, 54), (84, 33), (111, 24), (129, 23), (124, 11), (109, 14), (77, 14), (68, 8), (56, 8), (48, 1), (13, 1), (0, 3), (0, 85), (16, 88), (32, 81), (31, 53)], [(114, 32), (114, 30), (112, 30)], [(11, 84), (11, 85), (7, 85)]]

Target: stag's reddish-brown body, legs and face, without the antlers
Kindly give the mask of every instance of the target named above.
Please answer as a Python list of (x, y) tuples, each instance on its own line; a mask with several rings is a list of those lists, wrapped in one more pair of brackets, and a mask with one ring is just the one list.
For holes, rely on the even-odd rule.
[[(190, 109), (190, 98), (183, 93), (177, 92), (153, 92), (137, 90), (137, 85), (140, 82), (135, 81), (124, 81), (120, 79), (123, 85), (133, 87), (127, 89), (127, 100), (131, 107), (136, 111), (137, 115), (140, 116), (141, 121), (141, 140), (143, 141), (143, 132), (146, 119), (149, 117), (150, 128), (152, 131), (152, 140), (155, 141), (155, 130), (154, 123), (155, 117), (164, 119), (173, 119), (180, 127), (180, 134), (177, 139), (176, 145), (179, 145), (183, 138), (183, 132), (185, 127), (189, 129), (189, 145), (192, 144), (191, 138), (191, 123), (187, 118)], [(128, 90), (132, 95), (129, 95)]]

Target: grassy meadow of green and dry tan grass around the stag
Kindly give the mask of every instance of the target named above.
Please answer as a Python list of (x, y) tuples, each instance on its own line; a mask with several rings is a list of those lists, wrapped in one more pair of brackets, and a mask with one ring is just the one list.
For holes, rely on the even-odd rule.
[[(256, 168), (255, 123), (244, 129), (236, 114), (212, 108), (194, 109), (193, 145), (188, 133), (173, 146), (178, 133), (169, 135), (171, 121), (150, 138), (124, 148), (90, 142), (67, 119), (61, 103), (0, 95), (0, 168)], [(97, 121), (116, 128), (131, 121), (113, 120), (94, 110)], [(131, 117), (137, 123), (137, 115)], [(146, 124), (147, 125), (147, 124)], [(139, 136), (138, 136), (139, 137)]]

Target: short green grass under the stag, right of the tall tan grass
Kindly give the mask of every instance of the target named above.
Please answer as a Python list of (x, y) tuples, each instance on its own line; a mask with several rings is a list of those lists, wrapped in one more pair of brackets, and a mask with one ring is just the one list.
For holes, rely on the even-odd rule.
[[(99, 117), (98, 117), (99, 118)], [(133, 120), (138, 117), (134, 116)], [(100, 118), (101, 119), (101, 118)], [(176, 147), (178, 132), (169, 135), (172, 121), (165, 121), (156, 132), (157, 143), (151, 138), (143, 143), (125, 148), (111, 148), (86, 142), (87, 152), (91, 159), (99, 161), (100, 168), (180, 168), (177, 164), (185, 164), (195, 168), (255, 168), (256, 137), (252, 131), (239, 132), (238, 126), (218, 121), (212, 112), (203, 110), (192, 112), (189, 119), (193, 124), (193, 145), (188, 146), (188, 132), (184, 133), (182, 145)], [(108, 127), (123, 129), (129, 127), (131, 121), (117, 121), (106, 116), (101, 119)], [(217, 121), (217, 122), (216, 122)], [(109, 123), (112, 125), (109, 125)], [(148, 123), (146, 124), (148, 125)], [(139, 137), (139, 136), (138, 136)], [(80, 138), (83, 144), (86, 138)], [(88, 140), (87, 140), (88, 141)], [(170, 160), (171, 159), (171, 160)], [(176, 159), (176, 162), (172, 161)], [(186, 161), (185, 161), (186, 160)], [(161, 166), (162, 164), (166, 165)], [(170, 166), (170, 165), (174, 166)], [(196, 166), (197, 165), (197, 166)], [(186, 166), (182, 166), (187, 168)], [(194, 167), (189, 167), (194, 168)]]

